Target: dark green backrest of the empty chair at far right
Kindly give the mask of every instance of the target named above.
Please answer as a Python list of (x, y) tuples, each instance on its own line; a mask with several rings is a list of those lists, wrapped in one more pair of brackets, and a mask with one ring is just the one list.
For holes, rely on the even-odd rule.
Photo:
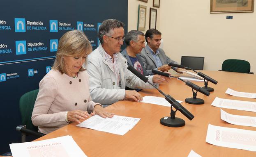
[(248, 61), (241, 59), (226, 59), (222, 63), (221, 70), (237, 73), (250, 73), (251, 65)]

